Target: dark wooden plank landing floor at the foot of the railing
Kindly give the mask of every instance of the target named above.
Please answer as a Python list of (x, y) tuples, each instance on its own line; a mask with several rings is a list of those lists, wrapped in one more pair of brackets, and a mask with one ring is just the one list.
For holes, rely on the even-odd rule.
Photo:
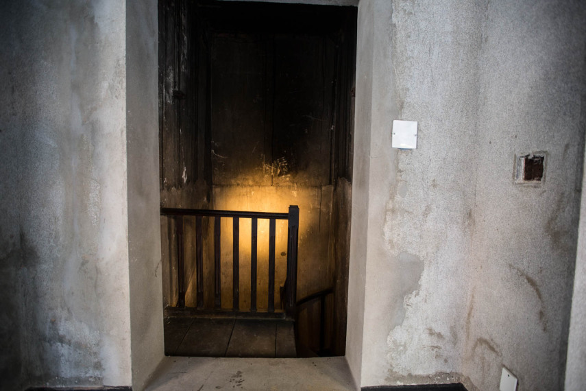
[(189, 357), (297, 357), (289, 320), (164, 320), (165, 355)]

